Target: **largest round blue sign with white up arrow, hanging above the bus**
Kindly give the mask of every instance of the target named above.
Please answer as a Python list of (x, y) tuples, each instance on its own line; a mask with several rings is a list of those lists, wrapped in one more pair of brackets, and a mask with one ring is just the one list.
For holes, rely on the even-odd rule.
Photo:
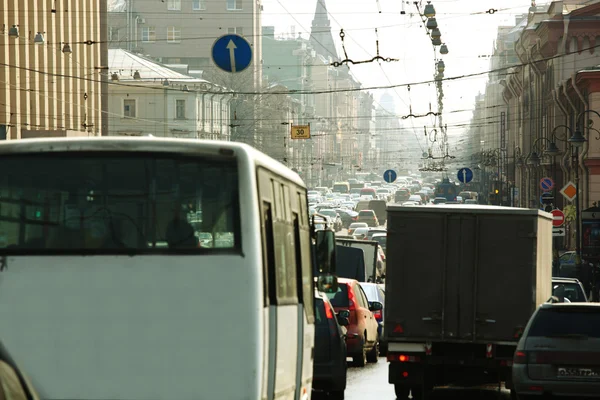
[(241, 72), (252, 62), (252, 47), (240, 35), (225, 35), (213, 44), (212, 57), (223, 71)]

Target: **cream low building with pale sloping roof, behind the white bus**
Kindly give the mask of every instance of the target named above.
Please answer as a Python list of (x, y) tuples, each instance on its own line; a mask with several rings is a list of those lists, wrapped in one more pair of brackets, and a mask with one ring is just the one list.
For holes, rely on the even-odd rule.
[(121, 49), (108, 68), (110, 135), (230, 139), (230, 91)]

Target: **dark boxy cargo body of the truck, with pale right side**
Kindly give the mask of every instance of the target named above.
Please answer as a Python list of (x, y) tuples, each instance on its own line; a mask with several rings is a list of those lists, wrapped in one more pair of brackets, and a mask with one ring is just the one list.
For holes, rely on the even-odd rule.
[(535, 209), (388, 207), (390, 342), (516, 343), (552, 292), (552, 215)]

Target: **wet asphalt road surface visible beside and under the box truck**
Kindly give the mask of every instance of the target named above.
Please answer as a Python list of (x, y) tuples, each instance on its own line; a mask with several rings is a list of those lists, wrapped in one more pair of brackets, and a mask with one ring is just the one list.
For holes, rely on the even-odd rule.
[[(395, 398), (394, 386), (388, 383), (388, 362), (384, 357), (380, 357), (375, 364), (367, 364), (364, 368), (348, 368), (346, 400), (393, 400)], [(497, 387), (439, 388), (434, 390), (430, 399), (509, 400), (510, 394), (505, 389), (498, 392)]]

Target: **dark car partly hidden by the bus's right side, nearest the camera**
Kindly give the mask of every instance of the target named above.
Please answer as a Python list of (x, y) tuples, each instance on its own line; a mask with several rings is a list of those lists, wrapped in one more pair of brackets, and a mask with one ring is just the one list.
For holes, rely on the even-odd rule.
[(344, 398), (346, 390), (346, 328), (348, 311), (335, 314), (327, 296), (315, 290), (315, 358), (313, 390), (330, 399)]

